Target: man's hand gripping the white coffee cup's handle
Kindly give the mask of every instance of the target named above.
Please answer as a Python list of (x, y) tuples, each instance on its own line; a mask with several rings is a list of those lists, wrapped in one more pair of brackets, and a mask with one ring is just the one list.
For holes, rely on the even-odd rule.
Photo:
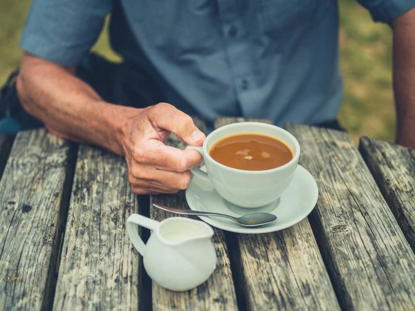
[(205, 135), (189, 115), (170, 104), (156, 104), (131, 116), (123, 133), (122, 148), (129, 167), (129, 181), (136, 194), (172, 194), (187, 188), (191, 178), (189, 169), (201, 162), (201, 155), (163, 142), (174, 133), (187, 144), (203, 144)]

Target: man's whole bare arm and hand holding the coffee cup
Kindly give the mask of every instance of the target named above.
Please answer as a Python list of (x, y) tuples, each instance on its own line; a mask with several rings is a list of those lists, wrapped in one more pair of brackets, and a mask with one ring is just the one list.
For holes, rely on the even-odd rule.
[(137, 194), (185, 189), (191, 177), (188, 170), (201, 161), (196, 151), (163, 144), (170, 132), (187, 144), (202, 144), (205, 136), (191, 117), (165, 103), (135, 109), (104, 102), (75, 77), (74, 68), (26, 54), (17, 92), (24, 109), (51, 132), (125, 156)]

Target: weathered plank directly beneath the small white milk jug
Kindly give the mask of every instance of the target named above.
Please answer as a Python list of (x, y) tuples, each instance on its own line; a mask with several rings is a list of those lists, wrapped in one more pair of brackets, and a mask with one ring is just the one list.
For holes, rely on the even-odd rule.
[[(205, 131), (205, 124), (200, 119), (194, 118), (196, 126)], [(166, 144), (180, 149), (185, 148), (185, 143), (170, 135)], [(178, 194), (151, 196), (151, 202), (177, 208), (185, 208), (184, 192)], [(174, 215), (150, 206), (150, 216), (158, 221)], [(153, 310), (237, 310), (237, 299), (232, 281), (228, 247), (225, 236), (219, 229), (214, 228), (214, 245), (218, 261), (216, 270), (210, 279), (194, 290), (188, 292), (171, 292), (153, 283)]]

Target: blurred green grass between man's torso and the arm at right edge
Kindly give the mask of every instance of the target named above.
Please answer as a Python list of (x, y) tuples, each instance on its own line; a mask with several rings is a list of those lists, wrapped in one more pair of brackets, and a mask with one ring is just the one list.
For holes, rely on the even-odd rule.
[(340, 1), (340, 62), (344, 101), (340, 121), (353, 140), (367, 135), (392, 141), (395, 135), (389, 26), (371, 21), (354, 0)]

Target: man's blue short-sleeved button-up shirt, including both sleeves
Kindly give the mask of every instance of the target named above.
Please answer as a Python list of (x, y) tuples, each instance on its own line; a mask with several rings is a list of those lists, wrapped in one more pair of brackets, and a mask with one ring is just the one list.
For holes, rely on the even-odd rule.
[[(360, 0), (390, 23), (414, 0)], [(88, 55), (112, 12), (111, 46), (167, 102), (206, 120), (317, 124), (342, 102), (334, 0), (33, 0), (20, 46), (64, 66)]]

